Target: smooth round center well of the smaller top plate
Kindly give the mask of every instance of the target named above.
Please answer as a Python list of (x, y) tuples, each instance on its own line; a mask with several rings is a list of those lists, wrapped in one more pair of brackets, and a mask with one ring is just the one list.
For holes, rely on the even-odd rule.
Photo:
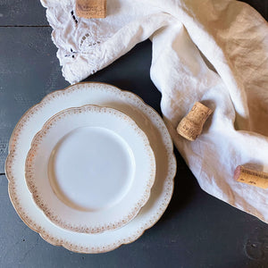
[(112, 130), (82, 127), (65, 135), (49, 159), (49, 180), (66, 205), (96, 211), (117, 204), (130, 187), (135, 160)]

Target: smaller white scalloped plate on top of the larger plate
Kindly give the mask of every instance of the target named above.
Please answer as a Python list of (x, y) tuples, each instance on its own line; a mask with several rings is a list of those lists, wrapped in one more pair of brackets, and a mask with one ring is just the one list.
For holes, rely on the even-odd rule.
[(99, 233), (130, 222), (146, 204), (155, 156), (129, 116), (85, 105), (46, 121), (33, 138), (25, 178), (34, 201), (56, 225)]

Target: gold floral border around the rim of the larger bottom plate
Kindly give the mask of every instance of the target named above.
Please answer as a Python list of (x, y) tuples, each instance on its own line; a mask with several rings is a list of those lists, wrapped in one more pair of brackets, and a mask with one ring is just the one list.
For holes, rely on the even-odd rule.
[[(18, 139), (21, 135), (21, 131), (24, 129), (24, 126), (29, 121), (30, 117), (37, 113), (38, 110), (48, 104), (51, 100), (54, 98), (58, 98), (61, 96), (65, 96), (70, 94), (71, 92), (76, 92), (79, 90), (82, 90), (83, 87), (87, 87), (88, 85), (106, 85), (107, 87), (104, 88), (98, 88), (98, 90), (104, 90), (105, 92), (112, 92), (115, 93), (121, 98), (121, 99), (127, 99), (130, 100), (132, 105), (138, 106), (138, 108), (143, 112), (147, 114), (147, 117), (154, 122), (157, 125), (157, 129), (161, 132), (163, 135), (163, 143), (166, 148), (166, 152), (168, 155), (168, 163), (169, 163), (169, 170), (168, 174), (166, 176), (166, 179), (164, 180), (163, 184), (163, 191), (164, 191), (164, 197), (162, 198), (161, 205), (159, 205), (158, 211), (150, 217), (150, 219), (139, 226), (138, 230), (130, 235), (129, 237), (125, 239), (118, 239), (115, 242), (111, 244), (104, 244), (102, 247), (85, 247), (82, 245), (78, 245), (75, 243), (72, 243), (68, 239), (58, 239), (54, 237), (54, 235), (50, 234), (49, 230), (46, 230), (43, 228), (38, 222), (33, 221), (27, 211), (22, 207), (21, 200), (18, 196), (18, 191), (20, 191), (20, 188), (17, 188), (16, 185), (16, 178), (13, 173), (13, 162), (17, 155), (17, 147), (18, 147)], [(177, 165), (176, 165), (176, 158), (173, 153), (173, 144), (172, 144), (172, 138), (166, 129), (162, 118), (160, 115), (155, 112), (155, 110), (147, 105), (142, 98), (139, 96), (129, 92), (129, 91), (123, 91), (120, 88), (116, 88), (114, 86), (111, 86), (109, 84), (105, 83), (96, 83), (96, 82), (84, 82), (84, 83), (78, 83), (75, 85), (71, 85), (68, 88), (56, 90), (47, 96), (38, 103), (37, 105), (31, 107), (26, 113), (24, 113), (21, 117), (21, 120), (17, 123), (13, 130), (13, 134), (10, 138), (9, 143), (9, 154), (6, 158), (5, 162), (5, 174), (9, 181), (8, 183), (8, 192), (10, 199), (13, 203), (13, 207), (16, 210), (17, 214), (21, 217), (21, 220), (31, 229), (39, 233), (39, 235), (46, 240), (46, 242), (54, 245), (54, 246), (62, 246), (65, 247), (68, 250), (71, 250), (73, 252), (77, 253), (85, 253), (85, 254), (97, 254), (97, 253), (105, 253), (108, 251), (112, 251), (113, 249), (120, 247), (123, 244), (129, 244), (137, 240), (139, 237), (142, 236), (142, 234), (145, 232), (145, 230), (151, 228), (163, 215), (166, 207), (169, 205), (170, 200), (172, 198), (172, 192), (174, 188), (174, 176), (176, 174)], [(20, 179), (19, 179), (20, 180)]]

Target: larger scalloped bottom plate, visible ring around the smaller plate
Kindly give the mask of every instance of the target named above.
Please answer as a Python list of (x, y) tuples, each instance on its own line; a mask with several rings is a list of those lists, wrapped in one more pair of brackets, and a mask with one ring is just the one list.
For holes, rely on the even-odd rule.
[[(24, 178), (24, 164), (32, 138), (55, 113), (81, 105), (103, 105), (128, 114), (145, 131), (155, 153), (155, 184), (147, 204), (120, 229), (99, 234), (64, 230), (50, 222), (35, 205)], [(13, 130), (5, 163), (8, 190), (23, 222), (48, 243), (80, 253), (101, 253), (138, 239), (164, 213), (173, 191), (176, 161), (172, 139), (162, 118), (138, 96), (101, 83), (80, 83), (54, 91), (25, 113)]]

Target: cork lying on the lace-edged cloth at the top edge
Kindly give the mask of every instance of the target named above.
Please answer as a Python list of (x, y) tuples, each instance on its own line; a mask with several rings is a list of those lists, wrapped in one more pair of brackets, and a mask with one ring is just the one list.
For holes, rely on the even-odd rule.
[(86, 19), (106, 17), (106, 0), (76, 0), (76, 14)]

